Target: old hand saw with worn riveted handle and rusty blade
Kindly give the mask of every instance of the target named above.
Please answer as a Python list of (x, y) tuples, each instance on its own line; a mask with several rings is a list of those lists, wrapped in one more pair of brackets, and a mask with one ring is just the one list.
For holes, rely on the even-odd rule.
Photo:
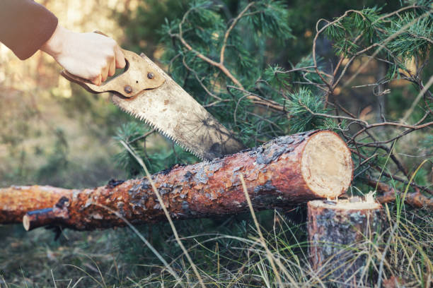
[(120, 109), (156, 128), (202, 160), (233, 154), (244, 148), (217, 119), (144, 54), (122, 50), (124, 73), (94, 85), (67, 71), (62, 76), (93, 93), (112, 92)]

